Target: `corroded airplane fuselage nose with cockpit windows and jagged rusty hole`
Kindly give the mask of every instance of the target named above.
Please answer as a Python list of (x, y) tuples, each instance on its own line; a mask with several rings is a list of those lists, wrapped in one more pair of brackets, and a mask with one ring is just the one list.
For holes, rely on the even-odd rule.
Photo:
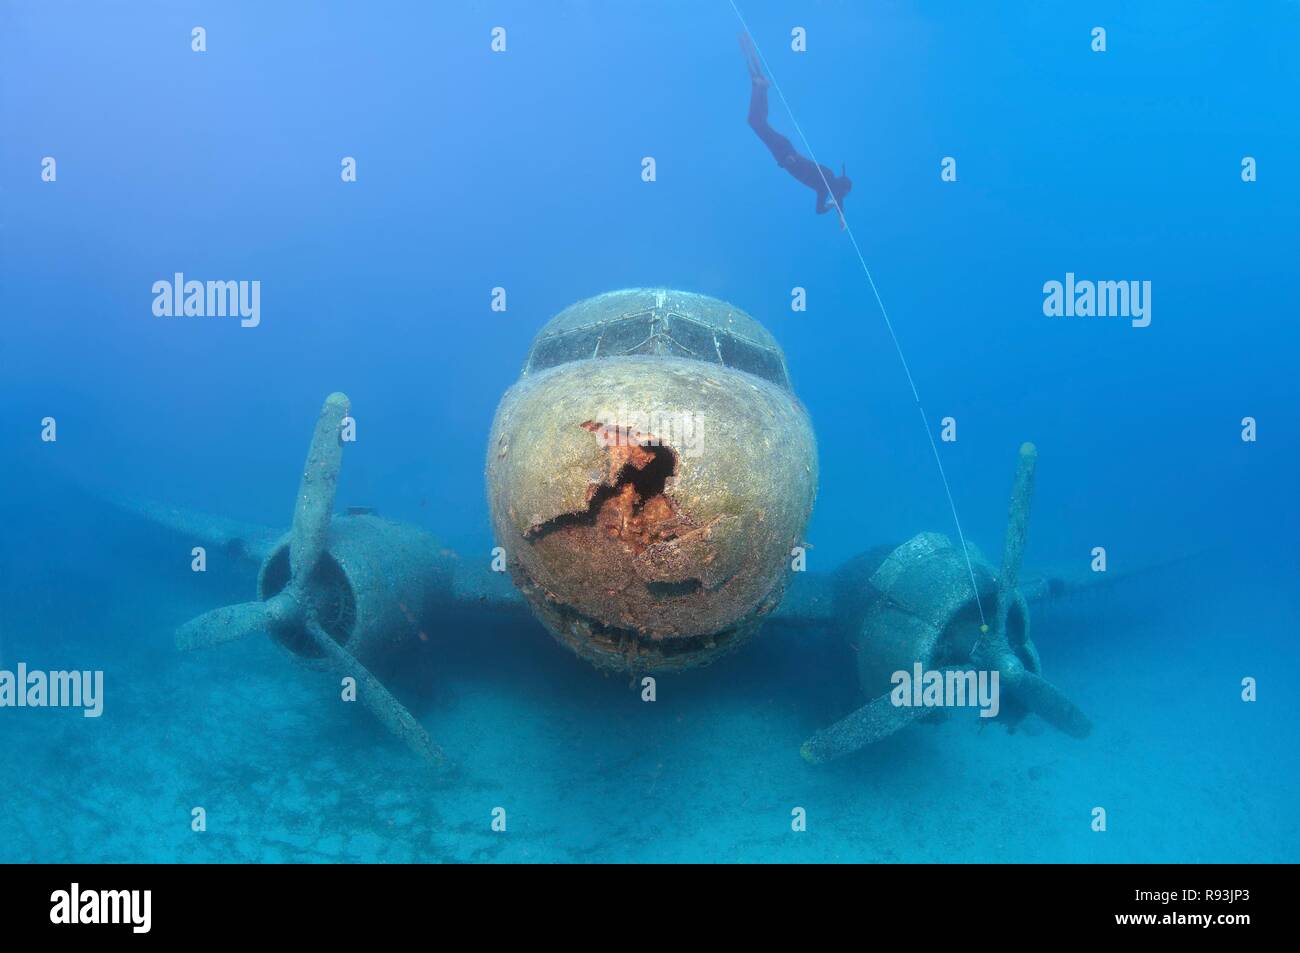
[(677, 671), (780, 602), (816, 442), (758, 321), (629, 289), (542, 328), (497, 410), (486, 478), (511, 576), (551, 634), (598, 668)]

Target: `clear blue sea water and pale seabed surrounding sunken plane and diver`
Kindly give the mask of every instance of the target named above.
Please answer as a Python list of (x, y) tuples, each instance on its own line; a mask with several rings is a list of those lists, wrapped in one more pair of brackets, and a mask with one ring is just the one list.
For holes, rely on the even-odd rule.
[[(745, 124), (727, 0), (0, 7), (0, 670), (105, 679), (99, 719), (0, 709), (0, 859), (1297, 859), (1300, 5), (1088, 7), (741, 4), (854, 181), (924, 421), (848, 234)], [(771, 122), (800, 143), (776, 96)], [(260, 281), (260, 325), (156, 317), (176, 272)], [(1067, 272), (1152, 282), (1150, 325), (1045, 316)], [(191, 538), (107, 501), (286, 527), (344, 390), (339, 504), (485, 568), (500, 394), (550, 316), (627, 286), (781, 343), (819, 441), (810, 572), (954, 533), (946, 416), (996, 558), (1032, 439), (1027, 564), (1088, 576), (1104, 546), (1114, 576), (1034, 620), (1092, 736), (963, 714), (814, 768), (800, 742), (861, 701), (833, 632), (774, 623), (647, 705), (469, 605), (386, 673), (458, 763), (434, 781), (269, 640), (176, 651), (254, 568), (194, 573)]]

